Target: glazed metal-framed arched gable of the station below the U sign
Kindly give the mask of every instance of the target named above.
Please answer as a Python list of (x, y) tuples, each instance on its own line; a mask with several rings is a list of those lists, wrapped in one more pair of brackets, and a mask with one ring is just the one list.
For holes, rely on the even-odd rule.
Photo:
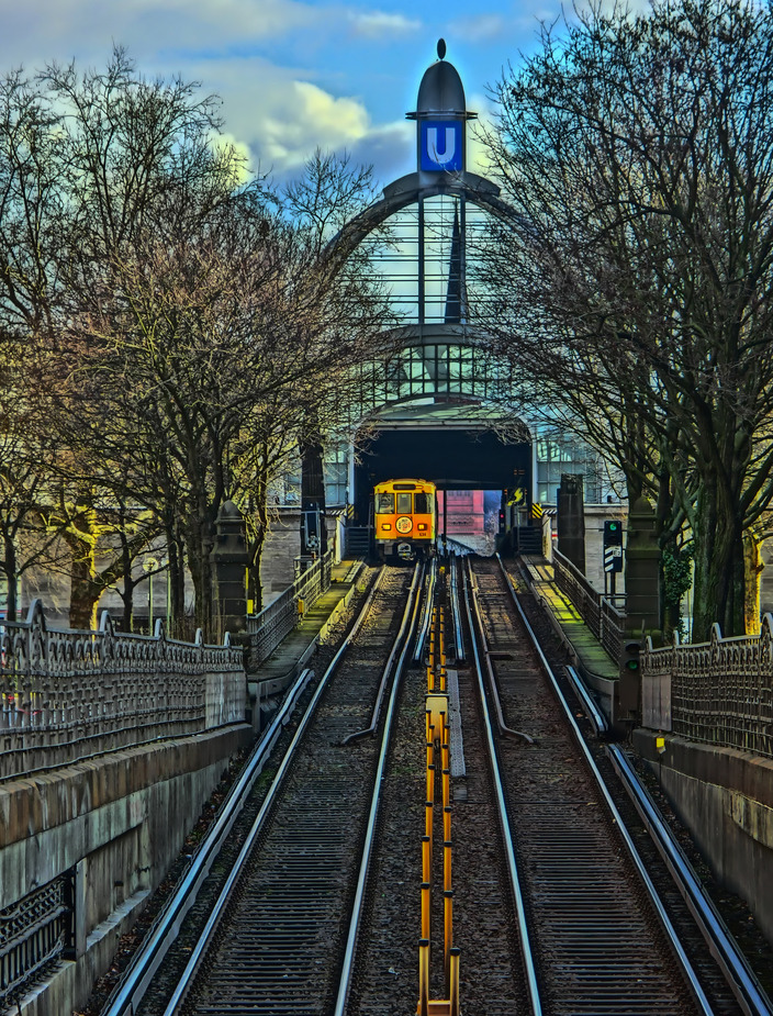
[[(492, 351), (475, 321), (485, 320), (485, 288), (468, 257), (485, 243), (490, 216), (513, 221), (495, 185), (475, 174), (410, 174), (383, 191), (328, 246), (334, 270), (361, 243), (374, 244), (395, 316), (405, 323), (381, 336), (395, 351), (359, 369), (351, 422), (380, 417), (391, 405), (427, 400), (488, 403), (512, 415), (522, 379)], [(488, 414), (481, 425), (491, 425)]]

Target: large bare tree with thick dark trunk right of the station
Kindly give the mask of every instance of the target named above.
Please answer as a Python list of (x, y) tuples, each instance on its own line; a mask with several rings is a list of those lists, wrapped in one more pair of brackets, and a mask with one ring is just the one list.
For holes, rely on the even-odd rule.
[(741, 632), (743, 535), (773, 494), (773, 11), (594, 4), (542, 43), (497, 89), (492, 146), (519, 347), (627, 399), (695, 536), (694, 634)]

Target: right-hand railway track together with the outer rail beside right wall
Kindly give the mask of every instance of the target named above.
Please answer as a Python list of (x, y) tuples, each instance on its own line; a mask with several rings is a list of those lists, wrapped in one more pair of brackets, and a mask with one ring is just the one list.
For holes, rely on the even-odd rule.
[[(591, 750), (585, 744), (576, 706), (535, 648), (501, 562), (475, 561), (472, 582), (480, 652), (493, 671), (485, 688), (492, 727), (504, 718), (509, 732), (518, 732), (496, 737), (495, 768), (524, 900), (530, 1011), (769, 1013), (748, 970), (733, 960), (722, 964), (724, 972), (714, 963), (687, 913), (686, 894), (675, 891), (670, 873), (657, 870), (663, 867), (652, 849), (660, 836), (657, 816), (645, 815), (637, 803), (648, 825), (642, 830), (634, 816), (638, 828), (629, 827), (634, 807), (608, 759), (600, 766), (594, 755), (609, 753), (618, 773), (627, 769), (636, 797), (641, 791), (632, 785), (632, 768), (618, 746), (596, 743)], [(628, 806), (618, 808), (615, 797), (626, 797)], [(647, 847), (646, 860), (637, 844)], [(722, 936), (716, 924), (704, 928), (715, 956), (729, 948)]]

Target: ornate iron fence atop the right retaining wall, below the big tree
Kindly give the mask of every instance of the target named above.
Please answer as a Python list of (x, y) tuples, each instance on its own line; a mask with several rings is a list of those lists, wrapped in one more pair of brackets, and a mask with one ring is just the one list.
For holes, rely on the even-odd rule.
[(773, 615), (759, 636), (654, 649), (641, 669), (642, 722), (692, 740), (773, 756)]

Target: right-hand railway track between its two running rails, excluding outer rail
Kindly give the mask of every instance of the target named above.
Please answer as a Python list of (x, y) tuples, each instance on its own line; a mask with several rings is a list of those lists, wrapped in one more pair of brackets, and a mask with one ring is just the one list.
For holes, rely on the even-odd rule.
[[(475, 562), (474, 606), (492, 743), (522, 904), (534, 1013), (709, 1012), (695, 1004), (619, 829), (514, 616), (497, 561)], [(495, 725), (495, 716), (492, 726)], [(502, 721), (500, 719), (500, 727)]]

